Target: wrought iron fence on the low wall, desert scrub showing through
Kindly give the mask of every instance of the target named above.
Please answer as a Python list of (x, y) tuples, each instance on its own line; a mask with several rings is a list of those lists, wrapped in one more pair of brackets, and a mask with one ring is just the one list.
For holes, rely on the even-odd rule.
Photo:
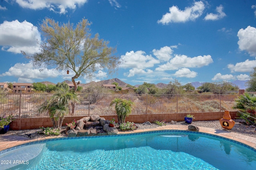
[[(43, 117), (38, 108), (52, 94), (0, 94), (0, 116)], [(232, 111), (238, 95), (136, 95), (136, 94), (79, 94), (75, 115), (116, 115), (110, 103), (115, 98), (134, 102), (132, 115), (154, 113), (195, 113)], [(70, 105), (70, 108), (71, 105)]]

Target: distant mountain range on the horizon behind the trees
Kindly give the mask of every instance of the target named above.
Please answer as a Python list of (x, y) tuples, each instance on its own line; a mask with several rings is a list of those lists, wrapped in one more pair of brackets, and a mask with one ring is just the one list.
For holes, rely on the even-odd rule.
[[(65, 81), (63, 81), (63, 82), (66, 82), (66, 83), (68, 83), (68, 84), (72, 84), (72, 81), (69, 81), (69, 80), (65, 80)], [(120, 86), (120, 87), (126, 87), (126, 86), (128, 85), (128, 83), (125, 83), (124, 81), (121, 81), (121, 80), (118, 79), (118, 78), (114, 78), (114, 79), (102, 80), (102, 81), (98, 81), (98, 82), (92, 81), (92, 82), (86, 83), (86, 84), (80, 83), (79, 86), (81, 86), (81, 87), (83, 87), (83, 88), (86, 88), (86, 87), (93, 86), (93, 85), (94, 85), (94, 86), (95, 86), (95, 85), (101, 86), (101, 85), (103, 85), (103, 84), (112, 84), (112, 83), (114, 83), (114, 82), (118, 83), (118, 86)], [(236, 80), (236, 81), (232, 81), (231, 83), (233, 83), (234, 85), (237, 85), (237, 86), (239, 87), (239, 89), (246, 89), (246, 88), (247, 88), (246, 82), (247, 82), (247, 81)], [(45, 84), (45, 85), (48, 85), (48, 84), (55, 85), (54, 83), (51, 83), (51, 82), (49, 82), (49, 81), (42, 81), (41, 83), (43, 83), (43, 84)], [(195, 88), (198, 88), (198, 87), (200, 87), (203, 83), (205, 83), (205, 82), (200, 83), (200, 82), (196, 81), (196, 82), (192, 82), (191, 84), (192, 84)], [(168, 84), (165, 84), (165, 83), (157, 83), (157, 84), (154, 84), (154, 85), (155, 85), (157, 88), (159, 88), (159, 89), (164, 89), (164, 88), (167, 87)], [(138, 86), (140, 86), (140, 85), (135, 85), (135, 87), (138, 87)]]

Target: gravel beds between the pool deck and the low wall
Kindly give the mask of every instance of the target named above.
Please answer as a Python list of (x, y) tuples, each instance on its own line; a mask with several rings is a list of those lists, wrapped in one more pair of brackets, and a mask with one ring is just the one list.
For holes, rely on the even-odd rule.
[[(251, 136), (256, 138), (256, 127), (255, 126), (247, 126), (244, 125), (244, 120), (242, 119), (235, 119), (234, 120), (236, 124), (231, 130), (227, 130), (230, 132), (236, 132), (238, 134), (243, 134), (246, 136)], [(193, 125), (196, 125), (198, 127), (207, 127), (207, 128), (214, 128), (218, 130), (226, 130), (221, 127), (220, 121), (193, 121)], [(148, 128), (156, 128), (159, 127), (159, 125), (156, 125), (155, 123), (152, 123), (151, 125), (143, 125), (142, 123), (136, 123), (138, 126), (138, 129), (148, 129)], [(173, 125), (171, 123), (166, 123), (166, 125)], [(174, 125), (189, 125), (185, 123), (184, 121), (177, 122)], [(65, 127), (62, 128), (62, 130), (65, 130)], [(28, 134), (31, 134), (31, 138), (37, 138), (37, 137), (43, 137), (45, 135), (39, 134), (41, 129), (30, 129), (30, 130), (8, 130), (6, 134), (1, 134), (1, 135), (15, 135), (15, 136), (23, 136), (23, 137), (28, 137)], [(64, 133), (62, 133), (63, 135)]]

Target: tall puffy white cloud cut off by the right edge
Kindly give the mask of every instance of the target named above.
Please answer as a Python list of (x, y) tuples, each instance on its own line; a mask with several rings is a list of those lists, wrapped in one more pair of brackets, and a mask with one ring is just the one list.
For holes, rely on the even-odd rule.
[(251, 56), (256, 56), (256, 28), (248, 26), (237, 33), (240, 50), (246, 50)]

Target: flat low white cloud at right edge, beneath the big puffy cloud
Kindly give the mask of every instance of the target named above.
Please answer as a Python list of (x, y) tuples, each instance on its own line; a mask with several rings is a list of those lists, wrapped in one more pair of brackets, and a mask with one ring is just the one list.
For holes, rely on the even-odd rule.
[(236, 63), (236, 65), (228, 64), (231, 73), (234, 72), (250, 72), (256, 65), (256, 60), (246, 59), (244, 62)]

